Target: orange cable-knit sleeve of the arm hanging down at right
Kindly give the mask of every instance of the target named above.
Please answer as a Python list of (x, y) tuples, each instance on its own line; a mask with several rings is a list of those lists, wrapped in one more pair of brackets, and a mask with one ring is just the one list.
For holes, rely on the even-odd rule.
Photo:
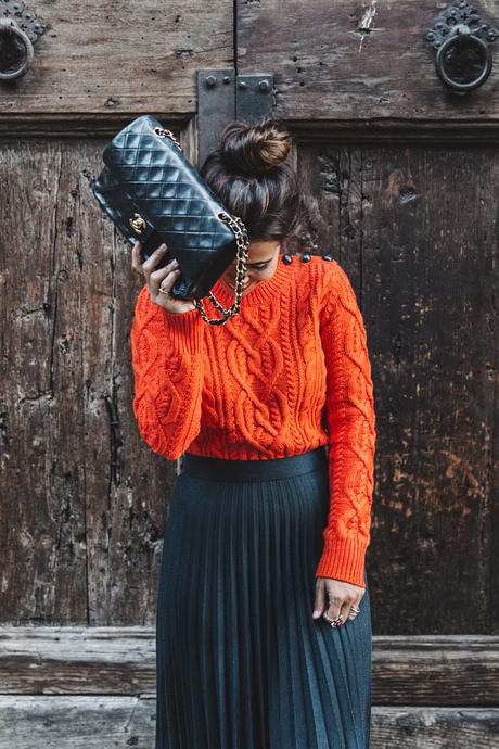
[(364, 587), (375, 449), (371, 364), (348, 276), (332, 261), (323, 279), (320, 334), (327, 365), (330, 509), (316, 576)]

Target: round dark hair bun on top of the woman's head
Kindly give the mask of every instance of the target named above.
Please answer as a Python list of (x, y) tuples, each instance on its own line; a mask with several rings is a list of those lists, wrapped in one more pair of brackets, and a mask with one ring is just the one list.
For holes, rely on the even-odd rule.
[(258, 123), (236, 119), (220, 136), (220, 154), (234, 174), (260, 176), (279, 166), (291, 151), (291, 135), (272, 117)]

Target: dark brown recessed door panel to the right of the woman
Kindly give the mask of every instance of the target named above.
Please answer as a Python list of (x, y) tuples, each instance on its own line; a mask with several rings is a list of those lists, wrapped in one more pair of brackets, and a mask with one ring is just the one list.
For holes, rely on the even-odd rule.
[(498, 632), (497, 150), (315, 144), (299, 164), (314, 239), (347, 271), (368, 329), (374, 631)]

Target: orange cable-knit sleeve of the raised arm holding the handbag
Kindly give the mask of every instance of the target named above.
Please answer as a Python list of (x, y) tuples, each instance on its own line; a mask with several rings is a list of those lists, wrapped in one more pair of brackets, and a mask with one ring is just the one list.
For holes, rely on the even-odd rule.
[(201, 429), (203, 322), (197, 309), (170, 313), (144, 285), (130, 331), (133, 414), (148, 445), (175, 460)]

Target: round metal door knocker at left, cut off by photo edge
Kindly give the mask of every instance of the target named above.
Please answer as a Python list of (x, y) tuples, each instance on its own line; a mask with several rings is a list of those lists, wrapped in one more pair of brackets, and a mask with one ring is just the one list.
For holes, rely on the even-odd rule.
[(44, 30), (41, 20), (21, 2), (0, 0), (0, 82), (25, 75), (35, 56), (33, 45)]

